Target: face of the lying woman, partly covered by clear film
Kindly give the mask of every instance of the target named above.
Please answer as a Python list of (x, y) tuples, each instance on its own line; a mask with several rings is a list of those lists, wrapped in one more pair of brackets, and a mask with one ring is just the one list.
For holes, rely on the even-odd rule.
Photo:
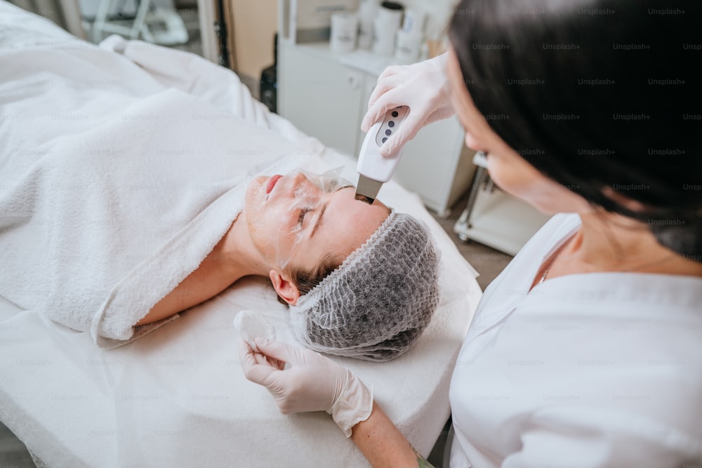
[(388, 207), (354, 198), (333, 174), (262, 176), (246, 191), (246, 221), (264, 258), (279, 269), (312, 269), (326, 255), (343, 261), (388, 218)]

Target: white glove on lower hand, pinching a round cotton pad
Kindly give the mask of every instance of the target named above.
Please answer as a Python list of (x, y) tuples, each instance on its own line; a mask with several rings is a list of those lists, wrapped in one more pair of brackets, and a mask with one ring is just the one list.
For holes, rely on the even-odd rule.
[(347, 368), (310, 349), (261, 338), (256, 346), (259, 352), (246, 342), (239, 345), (244, 375), (268, 389), (281, 413), (324, 410), (347, 437), (371, 415), (371, 392)]

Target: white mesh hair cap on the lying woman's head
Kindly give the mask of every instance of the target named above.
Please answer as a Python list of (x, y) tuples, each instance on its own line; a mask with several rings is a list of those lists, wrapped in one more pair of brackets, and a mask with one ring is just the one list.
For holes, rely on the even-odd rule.
[(306, 347), (389, 361), (413, 345), (439, 305), (439, 250), (422, 222), (395, 213), (290, 307)]

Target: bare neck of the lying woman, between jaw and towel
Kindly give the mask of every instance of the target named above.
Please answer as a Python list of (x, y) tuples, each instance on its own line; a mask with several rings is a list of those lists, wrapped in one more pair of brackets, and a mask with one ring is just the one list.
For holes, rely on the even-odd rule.
[(206, 260), (220, 262), (221, 274), (227, 276), (231, 283), (249, 275), (267, 277), (270, 271), (270, 267), (253, 246), (244, 212), (234, 220), (227, 233), (208, 253)]

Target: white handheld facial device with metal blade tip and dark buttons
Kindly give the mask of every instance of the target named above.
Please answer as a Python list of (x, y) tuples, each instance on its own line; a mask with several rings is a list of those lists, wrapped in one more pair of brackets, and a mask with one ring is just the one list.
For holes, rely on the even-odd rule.
[(397, 131), (408, 112), (407, 106), (390, 109), (383, 120), (374, 123), (366, 133), (356, 166), (359, 174), (356, 185), (357, 200), (365, 201), (369, 205), (373, 203), (380, 187), (395, 173), (399, 158), (402, 156), (402, 147), (395, 154), (380, 156), (380, 145), (383, 145), (390, 135)]

